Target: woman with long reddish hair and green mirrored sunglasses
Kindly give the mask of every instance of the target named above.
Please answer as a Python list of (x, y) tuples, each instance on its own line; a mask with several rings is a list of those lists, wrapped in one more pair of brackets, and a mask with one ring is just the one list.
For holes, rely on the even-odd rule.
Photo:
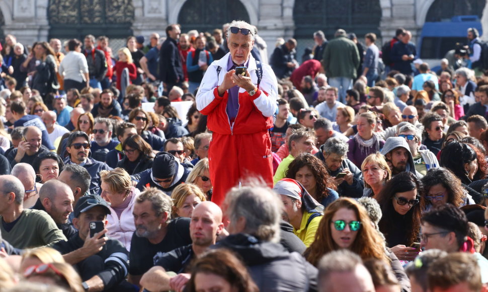
[(317, 266), (320, 258), (331, 251), (348, 249), (363, 260), (375, 258), (391, 265), (402, 289), (410, 282), (395, 255), (385, 248), (383, 239), (373, 227), (366, 209), (352, 198), (340, 198), (324, 211), (314, 242), (304, 257)]

